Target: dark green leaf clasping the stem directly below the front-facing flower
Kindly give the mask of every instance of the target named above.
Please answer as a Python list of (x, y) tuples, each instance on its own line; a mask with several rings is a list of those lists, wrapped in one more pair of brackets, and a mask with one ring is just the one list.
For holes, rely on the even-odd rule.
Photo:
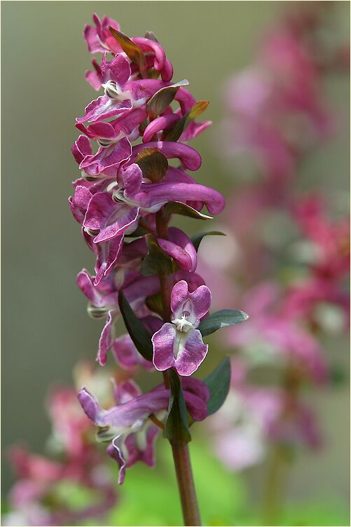
[(176, 372), (172, 369), (168, 370), (168, 378), (170, 381), (170, 403), (163, 437), (168, 439), (170, 443), (188, 443), (191, 441), (191, 434), (188, 428), (188, 414), (181, 383)]

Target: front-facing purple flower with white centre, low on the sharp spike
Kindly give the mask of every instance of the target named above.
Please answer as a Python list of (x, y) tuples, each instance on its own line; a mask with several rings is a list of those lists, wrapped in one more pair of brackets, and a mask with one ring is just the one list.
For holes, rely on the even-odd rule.
[(171, 294), (172, 323), (166, 322), (153, 337), (153, 364), (163, 371), (174, 367), (179, 375), (189, 376), (205, 359), (208, 345), (198, 329), (211, 303), (211, 292), (201, 285), (189, 293), (188, 284), (181, 280)]

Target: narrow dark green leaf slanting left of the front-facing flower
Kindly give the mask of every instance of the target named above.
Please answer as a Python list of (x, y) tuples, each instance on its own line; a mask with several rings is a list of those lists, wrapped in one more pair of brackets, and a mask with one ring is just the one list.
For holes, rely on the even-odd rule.
[(149, 331), (147, 331), (144, 324), (139, 320), (137, 315), (135, 315), (122, 290), (118, 294), (118, 304), (125, 327), (130, 334), (130, 338), (132, 338), (135, 348), (137, 348), (144, 359), (152, 361), (153, 345)]

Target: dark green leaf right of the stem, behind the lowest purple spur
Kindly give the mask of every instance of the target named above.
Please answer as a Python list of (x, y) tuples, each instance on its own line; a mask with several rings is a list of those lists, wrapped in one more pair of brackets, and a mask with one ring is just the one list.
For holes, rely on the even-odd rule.
[(219, 410), (226, 400), (230, 388), (230, 360), (225, 357), (219, 366), (209, 374), (204, 381), (209, 389), (209, 402), (207, 402), (208, 415), (211, 416)]

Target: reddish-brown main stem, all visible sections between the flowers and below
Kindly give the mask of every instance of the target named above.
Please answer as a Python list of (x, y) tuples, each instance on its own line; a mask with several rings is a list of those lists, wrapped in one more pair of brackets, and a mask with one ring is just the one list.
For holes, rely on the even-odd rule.
[[(158, 236), (161, 238), (168, 238), (168, 226), (165, 220), (163, 209), (156, 212), (156, 229)], [(163, 320), (170, 322), (171, 307), (170, 297), (174, 280), (172, 275), (160, 275), (160, 287), (163, 303)], [(163, 371), (163, 381), (165, 388), (170, 388), (167, 371)], [(181, 509), (183, 511), (185, 526), (200, 526), (200, 511), (198, 507), (198, 500), (196, 498), (195, 485), (193, 480), (193, 471), (191, 470), (191, 460), (186, 443), (172, 442), (172, 453), (174, 460), (174, 467), (177, 474), (179, 496), (181, 500)]]

